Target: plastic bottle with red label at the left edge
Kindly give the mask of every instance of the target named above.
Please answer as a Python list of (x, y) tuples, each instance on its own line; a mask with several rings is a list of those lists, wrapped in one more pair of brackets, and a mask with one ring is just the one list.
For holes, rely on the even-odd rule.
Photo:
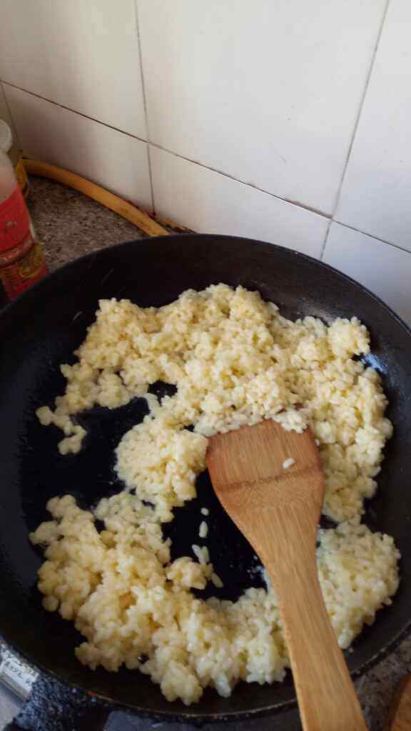
[(12, 163), (0, 150), (0, 306), (47, 273)]

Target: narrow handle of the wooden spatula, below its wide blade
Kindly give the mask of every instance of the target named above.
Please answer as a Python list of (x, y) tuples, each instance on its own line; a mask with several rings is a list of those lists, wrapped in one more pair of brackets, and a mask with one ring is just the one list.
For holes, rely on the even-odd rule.
[(303, 510), (291, 507), (287, 516), (276, 511), (270, 521), (271, 556), (261, 556), (279, 602), (303, 729), (366, 731), (325, 610), (315, 562), (315, 529), (307, 526), (309, 520)]

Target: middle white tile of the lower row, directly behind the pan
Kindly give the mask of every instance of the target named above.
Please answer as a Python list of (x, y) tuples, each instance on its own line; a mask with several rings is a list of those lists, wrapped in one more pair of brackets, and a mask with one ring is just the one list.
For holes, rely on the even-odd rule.
[(324, 216), (157, 148), (150, 156), (157, 213), (198, 232), (249, 236), (320, 255)]

